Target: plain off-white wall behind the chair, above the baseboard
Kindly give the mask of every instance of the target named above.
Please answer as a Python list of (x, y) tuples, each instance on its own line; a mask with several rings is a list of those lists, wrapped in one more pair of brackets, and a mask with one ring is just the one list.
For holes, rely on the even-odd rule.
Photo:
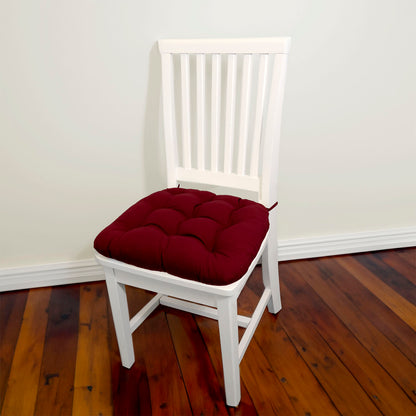
[(292, 36), (282, 239), (414, 227), (415, 16), (413, 0), (1, 0), (0, 267), (89, 258), (164, 186), (162, 37)]

